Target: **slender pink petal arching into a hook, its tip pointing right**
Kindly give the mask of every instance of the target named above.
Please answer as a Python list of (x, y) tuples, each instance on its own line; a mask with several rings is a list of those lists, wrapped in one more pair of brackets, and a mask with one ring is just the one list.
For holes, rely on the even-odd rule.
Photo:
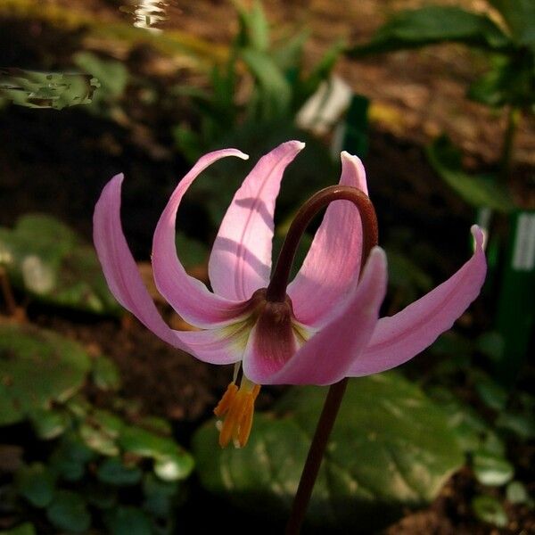
[(243, 160), (248, 158), (235, 149), (210, 152), (202, 156), (171, 195), (158, 221), (152, 242), (152, 271), (158, 290), (181, 317), (198, 327), (210, 328), (232, 323), (243, 309), (242, 302), (216, 295), (201, 281), (187, 275), (177, 259), (175, 244), (177, 210), (185, 191), (211, 163), (226, 156), (237, 156)]

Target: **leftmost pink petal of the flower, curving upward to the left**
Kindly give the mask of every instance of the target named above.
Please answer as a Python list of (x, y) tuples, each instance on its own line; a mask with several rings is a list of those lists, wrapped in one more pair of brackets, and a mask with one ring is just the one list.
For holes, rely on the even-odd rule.
[(229, 364), (239, 360), (242, 353), (222, 332), (174, 331), (160, 316), (143, 284), (136, 261), (120, 223), (120, 190), (123, 176), (117, 175), (104, 187), (95, 206), (93, 237), (103, 273), (111, 292), (119, 303), (134, 314), (141, 323), (173, 347), (192, 353), (214, 364)]

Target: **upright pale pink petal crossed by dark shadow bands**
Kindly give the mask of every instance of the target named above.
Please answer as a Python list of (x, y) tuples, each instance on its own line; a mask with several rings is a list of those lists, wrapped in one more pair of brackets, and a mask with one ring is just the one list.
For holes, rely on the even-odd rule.
[(219, 227), (209, 262), (215, 293), (247, 300), (269, 283), (273, 213), (284, 169), (304, 147), (289, 141), (268, 152), (236, 192)]

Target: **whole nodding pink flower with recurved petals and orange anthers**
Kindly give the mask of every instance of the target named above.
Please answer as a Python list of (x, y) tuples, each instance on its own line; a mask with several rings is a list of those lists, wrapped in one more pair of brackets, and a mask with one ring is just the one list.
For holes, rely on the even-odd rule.
[[(212, 162), (247, 156), (235, 149), (206, 154), (171, 195), (154, 232), (153, 276), (161, 295), (197, 331), (171, 329), (144, 287), (120, 223), (122, 175), (104, 187), (95, 207), (95, 247), (117, 300), (172, 346), (212, 364), (241, 363), (240, 386), (230, 383), (215, 410), (225, 416), (223, 446), (230, 440), (246, 443), (260, 384), (333, 384), (399, 366), (453, 325), (485, 277), (483, 235), (473, 226), (475, 251), (454, 276), (398, 314), (379, 319), (387, 285), (385, 254), (374, 247), (361, 266), (364, 219), (351, 202), (338, 200), (327, 208), (300, 272), (285, 295), (274, 299), (266, 289), (276, 196), (284, 169), (303, 147), (297, 141), (276, 147), (235, 193), (210, 254), (213, 292), (188, 276), (177, 259), (177, 209)], [(347, 152), (342, 152), (340, 184), (367, 194), (362, 163)]]

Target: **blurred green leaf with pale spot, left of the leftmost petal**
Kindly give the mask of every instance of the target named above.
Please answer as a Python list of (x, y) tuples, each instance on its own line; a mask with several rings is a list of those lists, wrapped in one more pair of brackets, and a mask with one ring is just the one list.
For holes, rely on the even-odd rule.
[(36, 299), (98, 314), (120, 310), (94, 248), (50, 216), (26, 215), (13, 230), (0, 227), (0, 265)]

